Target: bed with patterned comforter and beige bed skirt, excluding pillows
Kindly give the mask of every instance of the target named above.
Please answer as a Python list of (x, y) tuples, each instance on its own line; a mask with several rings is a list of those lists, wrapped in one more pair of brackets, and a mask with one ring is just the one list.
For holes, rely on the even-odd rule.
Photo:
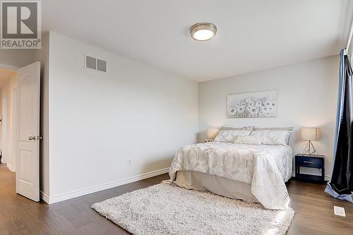
[(232, 140), (180, 147), (169, 169), (170, 182), (182, 188), (258, 202), (272, 210), (288, 207), (285, 182), (291, 175), (289, 145), (249, 145)]

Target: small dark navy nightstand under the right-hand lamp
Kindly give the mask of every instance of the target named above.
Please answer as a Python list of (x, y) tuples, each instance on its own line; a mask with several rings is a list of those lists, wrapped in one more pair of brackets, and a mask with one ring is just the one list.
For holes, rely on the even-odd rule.
[[(321, 169), (321, 176), (301, 174), (300, 167)], [(295, 179), (298, 181), (325, 183), (325, 156), (324, 155), (295, 155)]]

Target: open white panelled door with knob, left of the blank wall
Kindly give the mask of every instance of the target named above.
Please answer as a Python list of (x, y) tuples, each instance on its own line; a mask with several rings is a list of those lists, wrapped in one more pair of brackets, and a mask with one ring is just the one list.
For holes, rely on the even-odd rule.
[(17, 71), (16, 192), (40, 200), (40, 62)]

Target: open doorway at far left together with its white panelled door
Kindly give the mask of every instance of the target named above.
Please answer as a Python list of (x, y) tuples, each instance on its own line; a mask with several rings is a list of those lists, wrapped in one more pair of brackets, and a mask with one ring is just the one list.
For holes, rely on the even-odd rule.
[(16, 171), (13, 177), (16, 193), (38, 202), (40, 62), (16, 71), (0, 68), (0, 117), (0, 171)]

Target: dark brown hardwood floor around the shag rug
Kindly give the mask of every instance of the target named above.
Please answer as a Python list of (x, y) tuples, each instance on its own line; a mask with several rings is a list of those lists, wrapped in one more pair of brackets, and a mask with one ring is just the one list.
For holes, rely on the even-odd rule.
[[(15, 174), (0, 165), (0, 234), (128, 234), (100, 216), (90, 205), (168, 179), (167, 174), (47, 205), (15, 192)], [(353, 203), (331, 198), (324, 185), (289, 181), (295, 210), (287, 234), (353, 235)], [(333, 205), (345, 207), (347, 217), (333, 214)]]

